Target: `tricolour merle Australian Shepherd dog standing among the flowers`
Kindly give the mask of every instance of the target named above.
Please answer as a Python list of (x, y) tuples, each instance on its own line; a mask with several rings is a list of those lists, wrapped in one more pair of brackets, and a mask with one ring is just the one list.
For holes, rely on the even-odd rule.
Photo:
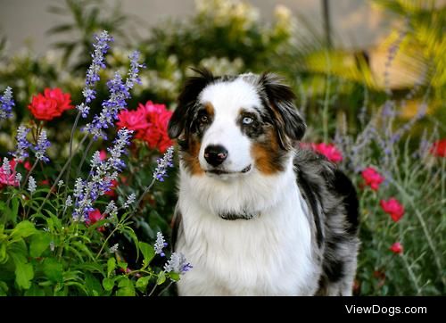
[(335, 164), (298, 143), (306, 125), (276, 74), (195, 70), (178, 96), (174, 250), (179, 295), (351, 295), (359, 203)]

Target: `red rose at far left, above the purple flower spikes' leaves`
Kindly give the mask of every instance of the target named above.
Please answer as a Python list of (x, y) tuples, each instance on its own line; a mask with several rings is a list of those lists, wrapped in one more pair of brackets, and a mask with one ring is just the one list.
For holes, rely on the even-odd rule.
[(53, 120), (60, 117), (62, 112), (74, 108), (70, 105), (70, 94), (62, 93), (60, 88), (45, 88), (44, 95), (32, 97), (28, 109), (38, 120)]

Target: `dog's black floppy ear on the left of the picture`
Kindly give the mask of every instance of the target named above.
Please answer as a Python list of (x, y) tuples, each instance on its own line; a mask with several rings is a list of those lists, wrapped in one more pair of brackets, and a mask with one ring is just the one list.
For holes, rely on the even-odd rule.
[(191, 112), (196, 104), (198, 95), (200, 95), (204, 87), (215, 79), (210, 70), (194, 68), (192, 70), (199, 75), (186, 79), (185, 86), (178, 96), (177, 109), (169, 120), (168, 134), (172, 139), (178, 137), (180, 140), (184, 139), (181, 135), (186, 133), (188, 121), (193, 117)]

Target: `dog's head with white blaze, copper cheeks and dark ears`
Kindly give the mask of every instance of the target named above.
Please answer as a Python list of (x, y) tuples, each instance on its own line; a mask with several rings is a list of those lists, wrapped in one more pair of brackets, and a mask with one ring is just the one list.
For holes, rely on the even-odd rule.
[(214, 77), (195, 71), (169, 121), (186, 170), (221, 179), (284, 170), (306, 128), (291, 88), (271, 73)]

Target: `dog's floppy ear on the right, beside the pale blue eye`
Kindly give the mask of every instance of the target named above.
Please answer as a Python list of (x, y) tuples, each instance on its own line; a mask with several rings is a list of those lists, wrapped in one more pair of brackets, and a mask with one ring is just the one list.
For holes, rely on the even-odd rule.
[(280, 145), (282, 148), (289, 148), (293, 141), (301, 140), (307, 128), (293, 104), (296, 96), (293, 90), (285, 86), (282, 79), (273, 73), (262, 74), (259, 86), (266, 96), (265, 104), (268, 104), (273, 113)]

